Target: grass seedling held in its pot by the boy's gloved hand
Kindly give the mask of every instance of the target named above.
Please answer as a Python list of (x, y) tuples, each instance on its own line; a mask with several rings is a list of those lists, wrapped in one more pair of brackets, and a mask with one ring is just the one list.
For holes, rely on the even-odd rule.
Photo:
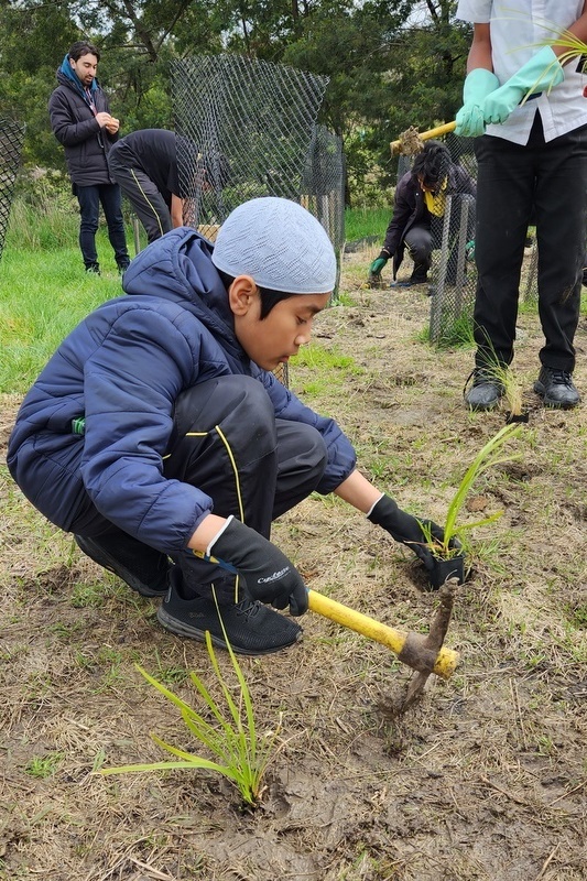
[(488, 468), (496, 465), (501, 465), (506, 461), (512, 461), (518, 458), (517, 454), (504, 454), (504, 445), (517, 437), (522, 429), (521, 425), (504, 425), (500, 431), (489, 438), (489, 440), (481, 447), (475, 459), (471, 461), (465, 475), (457, 487), (455, 494), (448, 505), (446, 519), (444, 522), (444, 540), (436, 539), (428, 524), (422, 523), (421, 527), (426, 539), (426, 546), (431, 550), (432, 554), (437, 559), (454, 559), (460, 556), (460, 540), (465, 532), (485, 526), (488, 523), (493, 523), (502, 515), (502, 511), (497, 511), (490, 516), (482, 520), (477, 520), (474, 523), (461, 523), (458, 521), (465, 500), (477, 480), (477, 478)]

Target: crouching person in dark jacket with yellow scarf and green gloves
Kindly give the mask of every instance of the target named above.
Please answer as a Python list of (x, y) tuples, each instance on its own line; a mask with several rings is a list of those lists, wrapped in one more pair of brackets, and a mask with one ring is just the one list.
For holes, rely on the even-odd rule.
[[(448, 148), (439, 141), (428, 141), (415, 157), (412, 170), (403, 175), (395, 188), (393, 216), (383, 248), (369, 271), (369, 284), (372, 287), (381, 286), (381, 270), (391, 257), (395, 280), (406, 248), (414, 261), (412, 275), (409, 281), (395, 282), (392, 286), (426, 284), (432, 251), (441, 247), (446, 196), (457, 194), (460, 198), (472, 200), (476, 196), (474, 182), (460, 165), (452, 161)], [(454, 216), (458, 217), (458, 213)], [(453, 216), (450, 220), (453, 226)], [(468, 238), (472, 238), (474, 225), (475, 215), (470, 211)], [(453, 262), (448, 262), (449, 273)], [(447, 281), (454, 284), (450, 278)]]

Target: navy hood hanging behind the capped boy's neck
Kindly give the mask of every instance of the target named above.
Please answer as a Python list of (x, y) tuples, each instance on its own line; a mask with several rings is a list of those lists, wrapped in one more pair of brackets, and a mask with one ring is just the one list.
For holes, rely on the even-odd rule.
[(213, 251), (211, 242), (191, 227), (173, 229), (134, 258), (122, 289), (131, 296), (181, 303), (242, 359), (228, 293), (210, 259)]

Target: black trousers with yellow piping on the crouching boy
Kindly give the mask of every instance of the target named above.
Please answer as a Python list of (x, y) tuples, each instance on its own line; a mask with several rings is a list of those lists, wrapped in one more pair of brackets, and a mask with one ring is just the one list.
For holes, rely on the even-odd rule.
[[(164, 457), (170, 480), (192, 483), (208, 494), (214, 513), (235, 518), (265, 539), (271, 522), (316, 489), (324, 474), (327, 452), (322, 435), (311, 425), (276, 420), (263, 385), (250, 377), (211, 379), (185, 391), (176, 402), (174, 433)], [(86, 521), (81, 534), (98, 541), (118, 535), (137, 554), (157, 555), (130, 539), (98, 512)], [(73, 532), (78, 532), (75, 524)], [(134, 553), (134, 552), (133, 552)], [(196, 557), (192, 551), (173, 556), (181, 566), (184, 595), (236, 599), (236, 578)]]

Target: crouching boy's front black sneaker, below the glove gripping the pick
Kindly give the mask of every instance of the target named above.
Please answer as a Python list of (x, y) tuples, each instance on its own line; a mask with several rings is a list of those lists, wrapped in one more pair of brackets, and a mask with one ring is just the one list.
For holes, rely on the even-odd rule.
[[(157, 609), (157, 620), (177, 637), (206, 641), (209, 631), (214, 645), (226, 649), (218, 610), (213, 599), (182, 599), (173, 587), (173, 577), (165, 599)], [(291, 618), (261, 602), (243, 599), (236, 605), (220, 606), (228, 642), (236, 654), (270, 654), (286, 649), (302, 637), (302, 628)]]

